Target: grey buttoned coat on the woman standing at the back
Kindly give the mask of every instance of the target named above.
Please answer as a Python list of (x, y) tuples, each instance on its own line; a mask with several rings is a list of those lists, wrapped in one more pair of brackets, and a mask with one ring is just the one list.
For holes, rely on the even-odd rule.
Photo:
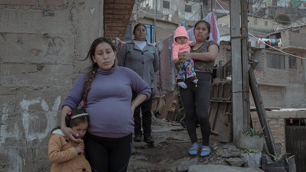
[(140, 50), (130, 40), (122, 45), (118, 57), (118, 65), (134, 70), (151, 88), (156, 87), (155, 72), (159, 69), (159, 58), (155, 46), (147, 41), (147, 45)]

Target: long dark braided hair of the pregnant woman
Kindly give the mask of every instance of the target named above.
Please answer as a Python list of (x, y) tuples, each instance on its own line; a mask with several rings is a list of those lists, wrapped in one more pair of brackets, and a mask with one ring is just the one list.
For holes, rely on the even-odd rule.
[[(86, 80), (84, 82), (84, 90), (83, 90), (83, 97), (82, 97), (82, 101), (85, 102), (86, 99), (87, 99), (87, 94), (89, 92), (89, 89), (90, 89), (90, 84), (92, 83), (93, 81), (93, 78), (95, 77), (96, 73), (97, 73), (97, 69), (99, 68), (98, 64), (95, 63), (92, 59), (92, 56), (95, 54), (95, 50), (96, 50), (96, 47), (98, 44), (100, 43), (103, 43), (103, 42), (106, 42), (108, 43), (113, 51), (115, 51), (115, 46), (113, 45), (112, 41), (110, 41), (109, 39), (107, 38), (104, 38), (104, 37), (100, 37), (100, 38), (97, 38), (96, 40), (94, 40), (90, 46), (90, 49), (87, 53), (87, 56), (86, 56), (86, 59), (89, 57), (90, 58), (90, 61), (91, 61), (91, 66), (88, 67), (88, 74), (86, 75)], [(84, 60), (86, 60), (84, 59)], [(81, 60), (81, 61), (84, 61), (84, 60)], [(112, 66), (112, 68), (115, 68), (116, 66), (118, 65), (118, 60), (117, 58), (115, 58), (115, 62)]]

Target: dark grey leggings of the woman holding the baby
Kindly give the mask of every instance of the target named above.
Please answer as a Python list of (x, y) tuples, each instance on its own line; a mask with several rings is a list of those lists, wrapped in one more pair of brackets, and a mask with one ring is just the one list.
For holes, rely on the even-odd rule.
[(209, 146), (210, 123), (208, 117), (210, 99), (210, 73), (196, 72), (198, 86), (185, 80), (187, 88), (179, 87), (186, 113), (187, 132), (191, 143), (198, 142), (196, 133), (196, 115), (201, 126), (202, 145)]

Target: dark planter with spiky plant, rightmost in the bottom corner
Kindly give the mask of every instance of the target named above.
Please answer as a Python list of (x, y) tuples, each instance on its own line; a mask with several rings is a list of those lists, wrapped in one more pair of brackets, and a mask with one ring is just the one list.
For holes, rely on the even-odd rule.
[(261, 168), (265, 172), (295, 172), (294, 155), (289, 156), (290, 153), (282, 153), (278, 157), (269, 154), (272, 157), (273, 162), (267, 162), (266, 156), (262, 156)]

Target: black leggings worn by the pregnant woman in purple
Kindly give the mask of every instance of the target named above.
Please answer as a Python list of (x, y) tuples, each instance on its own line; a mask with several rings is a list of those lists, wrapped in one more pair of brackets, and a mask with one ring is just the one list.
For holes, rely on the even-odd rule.
[(122, 138), (85, 135), (85, 153), (92, 172), (123, 172), (132, 153), (132, 133)]

